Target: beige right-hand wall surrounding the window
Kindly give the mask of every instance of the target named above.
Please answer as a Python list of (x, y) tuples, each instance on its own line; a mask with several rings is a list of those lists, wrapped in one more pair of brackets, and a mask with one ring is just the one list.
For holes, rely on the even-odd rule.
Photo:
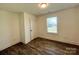
[[(47, 33), (46, 18), (58, 16), (58, 34)], [(38, 37), (79, 45), (79, 7), (38, 17)]]

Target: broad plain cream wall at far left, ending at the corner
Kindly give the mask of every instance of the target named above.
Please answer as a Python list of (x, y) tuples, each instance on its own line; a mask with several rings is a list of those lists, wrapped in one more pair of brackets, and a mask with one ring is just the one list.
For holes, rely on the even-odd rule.
[(0, 10), (0, 50), (20, 42), (19, 16)]

